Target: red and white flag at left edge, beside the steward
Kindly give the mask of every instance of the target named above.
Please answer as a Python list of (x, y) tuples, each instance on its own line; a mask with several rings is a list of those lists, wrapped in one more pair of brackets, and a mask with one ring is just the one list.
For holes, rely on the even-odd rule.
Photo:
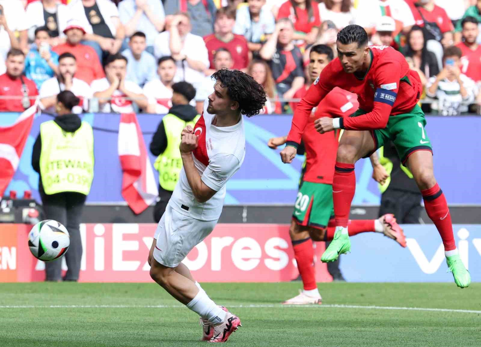
[(0, 126), (0, 198), (17, 170), (32, 128), (37, 104), (26, 109), (10, 126)]

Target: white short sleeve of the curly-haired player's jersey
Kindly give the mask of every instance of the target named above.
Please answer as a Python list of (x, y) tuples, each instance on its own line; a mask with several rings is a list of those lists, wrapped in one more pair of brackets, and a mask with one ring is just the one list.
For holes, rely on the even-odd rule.
[(233, 154), (219, 153), (209, 160), (202, 174), (202, 182), (209, 188), (219, 191), (228, 179), (241, 167), (239, 159)]

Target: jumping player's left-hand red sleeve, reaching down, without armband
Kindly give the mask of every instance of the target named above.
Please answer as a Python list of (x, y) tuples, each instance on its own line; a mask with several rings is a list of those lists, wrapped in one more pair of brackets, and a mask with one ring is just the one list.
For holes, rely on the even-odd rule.
[(311, 116), (312, 109), (329, 93), (332, 86), (329, 83), (331, 78), (331, 70), (329, 65), (322, 70), (320, 76), (307, 90), (306, 95), (297, 104), (294, 116), (292, 117), (291, 131), (287, 136), (287, 146), (297, 148), (301, 143), (301, 137), (304, 132), (305, 125)]

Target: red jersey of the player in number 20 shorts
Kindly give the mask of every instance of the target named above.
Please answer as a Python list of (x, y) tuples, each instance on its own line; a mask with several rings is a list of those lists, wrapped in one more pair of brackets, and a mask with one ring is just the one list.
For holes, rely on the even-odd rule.
[(320, 117), (349, 117), (358, 108), (356, 95), (338, 87), (319, 103), (302, 134), (306, 160), (304, 181), (331, 185), (334, 176), (339, 132), (319, 134), (314, 127), (314, 120)]

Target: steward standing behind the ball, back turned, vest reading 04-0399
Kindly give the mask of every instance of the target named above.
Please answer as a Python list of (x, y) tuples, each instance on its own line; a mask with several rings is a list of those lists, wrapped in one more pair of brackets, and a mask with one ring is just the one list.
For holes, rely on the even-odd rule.
[(79, 101), (71, 91), (60, 92), (55, 105), (57, 116), (40, 124), (32, 151), (32, 167), (40, 174), (38, 191), (46, 219), (62, 223), (70, 235), (65, 277), (61, 277), (59, 258), (45, 263), (46, 281), (77, 281), (80, 271), (79, 224), (93, 180), (94, 139), (90, 124), (72, 113)]

